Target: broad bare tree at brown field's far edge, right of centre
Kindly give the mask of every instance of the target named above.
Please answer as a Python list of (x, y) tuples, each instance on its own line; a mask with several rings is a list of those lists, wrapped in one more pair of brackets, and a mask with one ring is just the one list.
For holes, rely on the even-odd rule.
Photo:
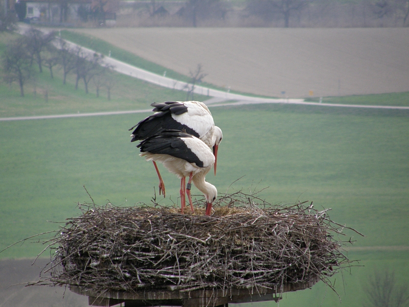
[(277, 14), (282, 15), (284, 27), (288, 28), (292, 12), (301, 11), (309, 2), (309, 0), (247, 0), (246, 9), (250, 14), (259, 15), (268, 21)]

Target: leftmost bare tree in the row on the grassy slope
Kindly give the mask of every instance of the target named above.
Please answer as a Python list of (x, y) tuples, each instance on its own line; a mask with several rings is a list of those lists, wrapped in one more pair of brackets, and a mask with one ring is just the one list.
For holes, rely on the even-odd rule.
[(24, 97), (24, 85), (34, 75), (24, 37), (14, 40), (7, 46), (2, 60), (5, 80), (10, 84), (18, 81), (20, 96)]

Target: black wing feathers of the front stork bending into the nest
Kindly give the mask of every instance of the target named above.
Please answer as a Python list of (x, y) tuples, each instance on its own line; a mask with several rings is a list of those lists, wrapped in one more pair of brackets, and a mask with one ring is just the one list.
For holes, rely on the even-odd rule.
[(195, 163), (198, 167), (203, 167), (203, 161), (193, 153), (181, 138), (192, 138), (192, 136), (179, 130), (166, 130), (161, 134), (143, 140), (137, 147), (141, 149), (141, 152), (169, 155)]

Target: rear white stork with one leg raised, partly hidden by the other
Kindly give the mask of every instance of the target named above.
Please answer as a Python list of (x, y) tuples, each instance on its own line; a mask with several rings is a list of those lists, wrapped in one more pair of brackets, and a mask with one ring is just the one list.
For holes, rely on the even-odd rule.
[[(223, 135), (221, 129), (214, 125), (212, 114), (206, 104), (199, 101), (167, 101), (152, 103), (151, 106), (154, 107), (153, 112), (155, 113), (129, 129), (136, 127), (132, 132), (131, 142), (145, 140), (164, 130), (185, 131), (213, 148), (214, 174), (216, 175), (217, 150)], [(162, 192), (165, 196), (165, 183), (155, 161), (153, 165), (159, 178), (159, 194)]]

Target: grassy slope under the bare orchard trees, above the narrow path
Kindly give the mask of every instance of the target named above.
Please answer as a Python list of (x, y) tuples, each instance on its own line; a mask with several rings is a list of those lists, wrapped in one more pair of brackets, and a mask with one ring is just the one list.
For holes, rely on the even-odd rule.
[[(17, 34), (0, 34), (0, 52), (5, 49), (8, 40)], [(43, 68), (43, 73), (36, 74), (35, 81), (24, 86), (25, 97), (20, 97), (19, 87), (13, 84), (11, 90), (8, 84), (0, 82), (0, 117), (52, 115), (87, 113), (99, 111), (127, 111), (147, 109), (153, 101), (186, 100), (186, 93), (165, 89), (145, 81), (120, 74), (113, 74), (115, 85), (111, 90), (111, 100), (107, 100), (105, 89), (100, 89), (100, 97), (96, 97), (93, 82), (89, 82), (89, 94), (84, 93), (83, 83), (75, 91), (75, 77), (69, 74), (67, 84), (62, 84), (62, 72), (58, 68), (53, 70), (54, 79), (50, 72)], [(0, 71), (0, 77), (1, 76)], [(44, 94), (48, 91), (48, 101)], [(195, 95), (195, 99), (205, 99)]]

